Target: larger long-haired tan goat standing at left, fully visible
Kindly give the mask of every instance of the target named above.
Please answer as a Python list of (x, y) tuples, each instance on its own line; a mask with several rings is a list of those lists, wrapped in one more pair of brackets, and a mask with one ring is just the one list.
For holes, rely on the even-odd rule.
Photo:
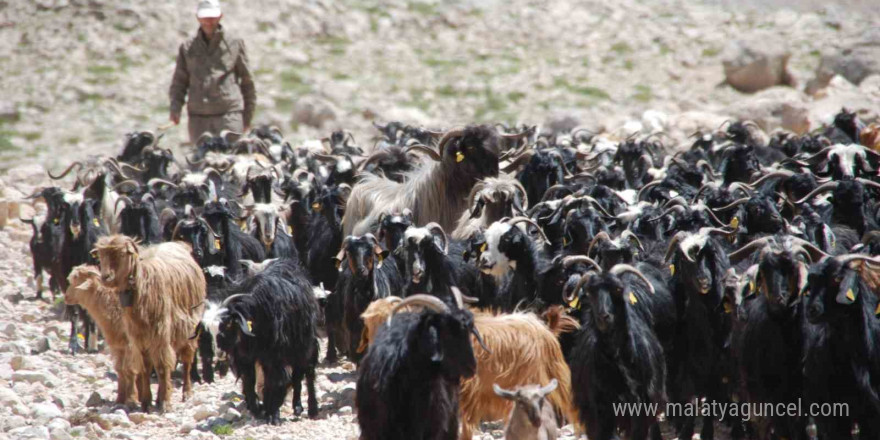
[(138, 371), (138, 396), (147, 410), (152, 400), (150, 372), (156, 370), (156, 408), (170, 405), (171, 371), (183, 364), (183, 400), (192, 394), (190, 370), (197, 339), (191, 336), (205, 301), (205, 277), (186, 244), (162, 243), (141, 250), (124, 235), (101, 237), (95, 245), (104, 286), (120, 294), (123, 325)]

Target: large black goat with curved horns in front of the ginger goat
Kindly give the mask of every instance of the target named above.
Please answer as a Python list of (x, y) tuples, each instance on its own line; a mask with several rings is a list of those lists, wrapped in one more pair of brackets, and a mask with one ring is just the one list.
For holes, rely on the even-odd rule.
[(458, 438), (461, 379), (477, 369), (470, 335), (482, 338), (469, 311), (436, 296), (413, 295), (393, 310), (415, 305), (427, 310), (392, 314), (361, 362), (355, 403), (363, 440)]

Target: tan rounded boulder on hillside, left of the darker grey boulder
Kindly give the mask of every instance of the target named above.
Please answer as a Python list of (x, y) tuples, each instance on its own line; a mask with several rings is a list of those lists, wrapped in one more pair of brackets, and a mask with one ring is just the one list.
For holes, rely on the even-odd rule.
[(791, 52), (783, 41), (760, 36), (735, 40), (724, 51), (725, 82), (736, 90), (754, 93), (778, 85), (795, 85), (788, 71)]

